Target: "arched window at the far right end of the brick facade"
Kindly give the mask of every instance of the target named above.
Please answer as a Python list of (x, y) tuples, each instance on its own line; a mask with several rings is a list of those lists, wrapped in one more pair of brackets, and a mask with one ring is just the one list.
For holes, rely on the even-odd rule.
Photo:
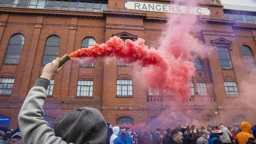
[(245, 60), (246, 70), (255, 71), (256, 70), (255, 60), (254, 60), (254, 55), (252, 53), (251, 48), (249, 48), (249, 46), (242, 46), (241, 51)]

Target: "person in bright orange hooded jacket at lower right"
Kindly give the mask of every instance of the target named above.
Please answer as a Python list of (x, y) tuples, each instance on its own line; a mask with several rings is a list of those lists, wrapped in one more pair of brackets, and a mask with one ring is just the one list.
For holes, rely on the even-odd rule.
[(248, 122), (242, 122), (240, 126), (241, 132), (236, 135), (236, 139), (238, 144), (246, 144), (249, 138), (254, 138), (254, 136), (251, 135), (251, 125)]

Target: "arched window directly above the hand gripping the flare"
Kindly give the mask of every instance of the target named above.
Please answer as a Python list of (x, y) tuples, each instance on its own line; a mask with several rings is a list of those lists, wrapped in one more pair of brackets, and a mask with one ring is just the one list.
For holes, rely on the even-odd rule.
[(60, 39), (58, 36), (50, 36), (46, 39), (46, 45), (43, 52), (42, 64), (48, 64), (56, 59), (59, 55)]

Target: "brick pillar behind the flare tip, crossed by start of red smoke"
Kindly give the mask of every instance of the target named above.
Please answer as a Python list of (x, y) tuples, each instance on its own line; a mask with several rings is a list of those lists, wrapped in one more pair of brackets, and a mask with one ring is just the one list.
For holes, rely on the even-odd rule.
[[(72, 53), (75, 44), (75, 33), (77, 29), (78, 18), (71, 18), (71, 25), (69, 26), (69, 39), (66, 48), (66, 53)], [(72, 62), (68, 61), (65, 63), (62, 77), (61, 97), (67, 97), (69, 94), (69, 80), (71, 75)]]

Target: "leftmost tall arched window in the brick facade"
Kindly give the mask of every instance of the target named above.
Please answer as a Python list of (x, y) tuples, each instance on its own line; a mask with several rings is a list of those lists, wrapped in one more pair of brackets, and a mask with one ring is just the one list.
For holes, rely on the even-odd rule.
[(24, 36), (22, 34), (14, 34), (11, 36), (5, 53), (4, 63), (18, 64), (21, 57), (23, 44)]

